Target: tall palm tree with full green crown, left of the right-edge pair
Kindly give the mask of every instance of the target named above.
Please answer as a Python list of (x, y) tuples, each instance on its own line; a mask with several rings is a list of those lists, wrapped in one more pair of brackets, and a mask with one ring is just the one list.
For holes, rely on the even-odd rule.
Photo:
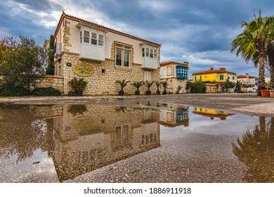
[(261, 95), (260, 90), (265, 85), (264, 72), (266, 61), (266, 46), (269, 42), (268, 37), (268, 24), (267, 18), (261, 17), (261, 11), (259, 11), (259, 17), (254, 14), (254, 20), (247, 23), (242, 22), (244, 31), (239, 34), (231, 43), (231, 52), (236, 49), (236, 55), (241, 53), (242, 58), (248, 63), (250, 60), (254, 63), (255, 67), (259, 64), (259, 86), (258, 94)]

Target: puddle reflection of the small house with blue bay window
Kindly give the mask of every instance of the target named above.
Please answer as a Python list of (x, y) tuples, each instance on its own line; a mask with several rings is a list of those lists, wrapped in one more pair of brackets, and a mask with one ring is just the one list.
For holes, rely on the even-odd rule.
[(188, 127), (189, 116), (188, 108), (180, 108), (179, 110), (160, 110), (160, 125), (167, 127), (176, 127), (184, 125)]

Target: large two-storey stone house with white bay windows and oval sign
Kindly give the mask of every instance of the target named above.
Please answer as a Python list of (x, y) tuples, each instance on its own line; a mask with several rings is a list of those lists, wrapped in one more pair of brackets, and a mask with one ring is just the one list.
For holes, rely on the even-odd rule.
[[(117, 80), (159, 80), (160, 44), (125, 34), (63, 13), (55, 40), (55, 75), (64, 78), (64, 94), (70, 91), (67, 82), (84, 78), (86, 95), (118, 94)], [(146, 90), (141, 87), (141, 94)], [(157, 90), (153, 85), (152, 93)], [(136, 88), (128, 84), (127, 94)]]

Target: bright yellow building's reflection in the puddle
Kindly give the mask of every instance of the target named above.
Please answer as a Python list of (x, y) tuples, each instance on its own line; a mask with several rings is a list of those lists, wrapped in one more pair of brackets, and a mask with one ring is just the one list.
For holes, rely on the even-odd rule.
[(226, 113), (221, 110), (213, 110), (209, 108), (193, 108), (193, 113), (210, 117), (211, 120), (214, 120), (214, 117), (220, 118), (221, 120), (226, 120), (226, 117), (231, 115), (230, 113)]

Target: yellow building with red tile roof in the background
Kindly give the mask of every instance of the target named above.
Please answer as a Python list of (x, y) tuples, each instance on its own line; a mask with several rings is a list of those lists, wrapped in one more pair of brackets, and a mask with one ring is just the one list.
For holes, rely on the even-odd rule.
[(220, 70), (205, 70), (193, 74), (193, 82), (237, 82), (237, 76), (234, 72), (226, 71), (226, 68), (220, 68)]

